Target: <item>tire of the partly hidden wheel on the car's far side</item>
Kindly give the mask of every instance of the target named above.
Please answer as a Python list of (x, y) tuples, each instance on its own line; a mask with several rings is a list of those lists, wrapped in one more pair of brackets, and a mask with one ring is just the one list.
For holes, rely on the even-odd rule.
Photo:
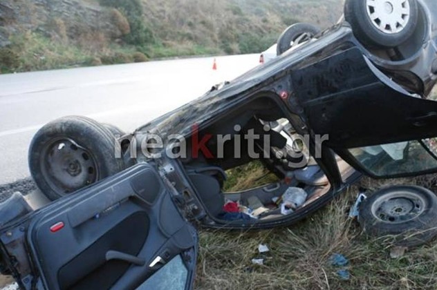
[[(295, 23), (284, 30), (277, 42), (277, 55), (282, 55), (291, 48), (292, 41), (295, 41), (298, 37), (304, 33), (308, 34), (309, 39), (315, 37), (319, 33), (319, 28), (309, 23)], [(308, 40), (308, 37), (303, 40)]]

